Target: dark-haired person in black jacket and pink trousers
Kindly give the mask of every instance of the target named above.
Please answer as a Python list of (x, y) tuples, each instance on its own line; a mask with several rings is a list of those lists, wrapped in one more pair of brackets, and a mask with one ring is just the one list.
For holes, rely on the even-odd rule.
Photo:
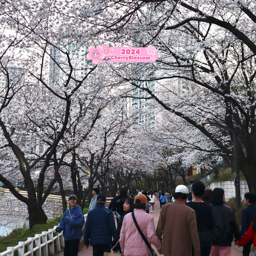
[(234, 213), (229, 206), (224, 205), (224, 202), (224, 190), (222, 188), (214, 188), (212, 192), (212, 212), (215, 227), (212, 231), (210, 256), (230, 256), (233, 234), (236, 240), (241, 238)]

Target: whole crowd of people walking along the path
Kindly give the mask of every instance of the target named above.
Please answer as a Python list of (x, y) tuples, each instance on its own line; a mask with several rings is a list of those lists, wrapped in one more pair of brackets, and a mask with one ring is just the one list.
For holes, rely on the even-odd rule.
[[(244, 246), (243, 256), (249, 256), (252, 244), (256, 248), (253, 193), (244, 195), (247, 207), (242, 210), (241, 231), (231, 208), (224, 204), (221, 188), (205, 189), (202, 182), (196, 181), (191, 193), (184, 185), (177, 186), (171, 195), (167, 190), (158, 193), (152, 189), (128, 193), (124, 188), (118, 190), (106, 208), (106, 196), (94, 188), (85, 224), (76, 195), (70, 195), (70, 208), (56, 228), (57, 232), (63, 230), (64, 256), (77, 255), (83, 226), (84, 244), (86, 248), (92, 246), (93, 256), (111, 251), (123, 256), (151, 256), (151, 244), (165, 256), (230, 256), (234, 238), (238, 246)], [(156, 200), (161, 210), (155, 229), (150, 213), (154, 212)]]

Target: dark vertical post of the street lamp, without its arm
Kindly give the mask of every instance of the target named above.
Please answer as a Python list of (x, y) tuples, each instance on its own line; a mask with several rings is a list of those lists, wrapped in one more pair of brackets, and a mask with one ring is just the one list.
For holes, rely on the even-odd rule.
[(234, 146), (234, 172), (236, 173), (236, 209), (241, 206), (241, 194), (240, 194), (240, 174), (238, 170), (238, 134), (233, 132), (233, 146)]

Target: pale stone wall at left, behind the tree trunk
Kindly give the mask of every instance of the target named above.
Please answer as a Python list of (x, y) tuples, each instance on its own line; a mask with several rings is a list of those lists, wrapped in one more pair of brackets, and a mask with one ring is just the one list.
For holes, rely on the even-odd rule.
[[(62, 214), (62, 201), (47, 198), (43, 209), (48, 218), (55, 218)], [(26, 204), (8, 192), (0, 193), (0, 225), (10, 229), (29, 226)]]

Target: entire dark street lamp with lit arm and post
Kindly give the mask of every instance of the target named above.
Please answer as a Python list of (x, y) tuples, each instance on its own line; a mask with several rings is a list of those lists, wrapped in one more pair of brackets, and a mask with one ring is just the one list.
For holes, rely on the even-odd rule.
[(212, 122), (204, 122), (202, 123), (203, 126), (217, 126), (221, 129), (228, 130), (232, 132), (233, 134), (233, 147), (234, 147), (234, 172), (235, 172), (235, 180), (234, 184), (236, 187), (236, 209), (240, 208), (241, 205), (241, 195), (240, 195), (240, 174), (238, 170), (238, 132), (239, 132), (239, 127), (236, 129), (224, 126), (222, 124), (218, 123), (212, 123)]

